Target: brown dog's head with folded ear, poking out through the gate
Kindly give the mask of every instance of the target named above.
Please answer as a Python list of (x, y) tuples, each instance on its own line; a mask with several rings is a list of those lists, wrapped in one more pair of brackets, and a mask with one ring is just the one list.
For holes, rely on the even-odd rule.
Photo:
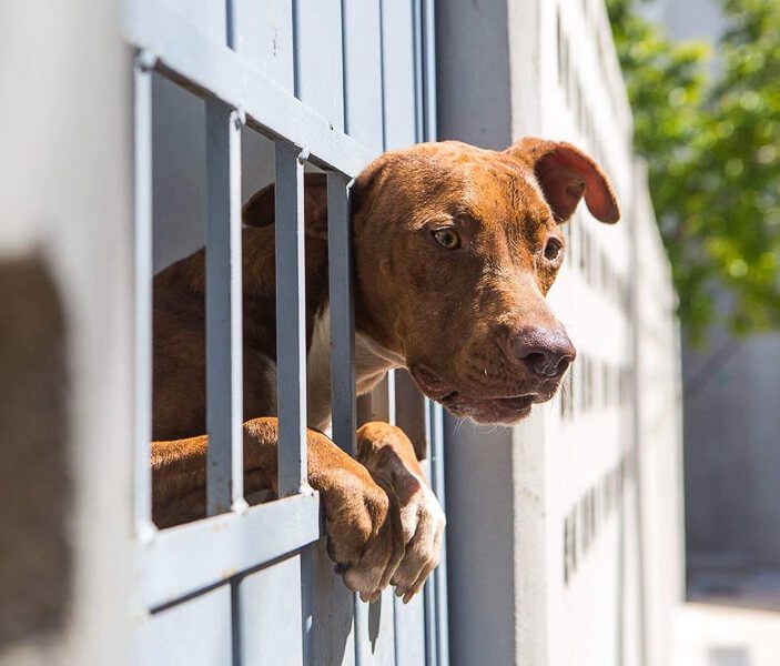
[(362, 331), (455, 415), (523, 418), (575, 359), (545, 295), (564, 260), (560, 224), (583, 196), (598, 220), (617, 222), (607, 176), (568, 143), (385, 153), (353, 190)]

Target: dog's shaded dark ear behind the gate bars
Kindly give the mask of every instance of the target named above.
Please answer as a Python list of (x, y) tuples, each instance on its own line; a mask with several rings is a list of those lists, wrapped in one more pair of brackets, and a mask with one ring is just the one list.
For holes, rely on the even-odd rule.
[[(324, 173), (304, 174), (303, 214), (306, 235), (327, 240), (327, 176)], [(267, 185), (255, 192), (244, 204), (244, 226), (269, 226), (276, 214), (276, 192)]]

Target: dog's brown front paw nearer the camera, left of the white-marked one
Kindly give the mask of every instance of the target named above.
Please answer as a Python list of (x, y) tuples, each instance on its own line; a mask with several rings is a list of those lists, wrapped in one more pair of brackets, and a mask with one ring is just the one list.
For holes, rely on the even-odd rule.
[(392, 490), (351, 462), (350, 468), (330, 470), (316, 485), (325, 506), (327, 553), (344, 584), (369, 602), (387, 587), (404, 556), (403, 528)]

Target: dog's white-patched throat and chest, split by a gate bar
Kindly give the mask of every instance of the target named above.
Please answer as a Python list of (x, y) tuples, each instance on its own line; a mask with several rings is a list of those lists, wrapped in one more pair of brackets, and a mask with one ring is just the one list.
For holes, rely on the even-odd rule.
[[(404, 359), (369, 335), (355, 331), (355, 390), (368, 393), (388, 370), (403, 367)], [(331, 309), (326, 306), (314, 322), (306, 356), (306, 417), (311, 427), (326, 430), (331, 422)]]

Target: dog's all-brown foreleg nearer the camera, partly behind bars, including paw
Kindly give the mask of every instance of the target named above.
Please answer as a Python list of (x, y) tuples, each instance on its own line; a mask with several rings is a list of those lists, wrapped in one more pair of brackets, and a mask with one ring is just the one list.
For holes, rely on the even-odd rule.
[[(245, 493), (276, 491), (276, 418), (244, 424)], [(325, 435), (307, 432), (308, 483), (325, 508), (327, 553), (344, 583), (363, 601), (376, 598), (404, 556), (398, 503)], [(205, 515), (207, 437), (152, 444), (154, 522), (168, 527)]]

